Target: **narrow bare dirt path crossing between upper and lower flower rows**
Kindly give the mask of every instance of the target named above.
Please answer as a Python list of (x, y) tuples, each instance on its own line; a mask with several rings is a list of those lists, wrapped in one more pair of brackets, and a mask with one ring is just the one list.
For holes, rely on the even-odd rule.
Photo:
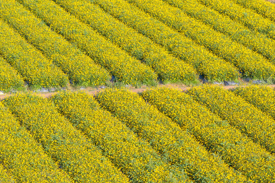
[[(185, 85), (177, 85), (177, 84), (166, 84), (166, 85), (159, 85), (159, 86), (166, 86), (166, 87), (171, 87), (171, 88), (177, 88), (177, 89), (180, 89), (182, 91), (186, 91), (188, 90), (190, 87), (188, 86), (185, 86)], [(248, 85), (241, 85), (241, 87), (246, 87)], [(274, 88), (275, 89), (275, 84), (272, 84), (272, 85), (267, 85), (268, 87), (271, 87), (271, 88)], [(225, 85), (221, 85), (221, 87), (225, 88), (225, 89), (231, 89), (231, 88), (235, 88), (235, 87), (238, 87), (238, 85), (228, 85), (228, 86), (225, 86)], [(131, 92), (134, 92), (134, 93), (142, 93), (144, 92), (146, 89), (148, 89), (150, 87), (142, 87), (142, 88), (128, 88)], [(95, 95), (96, 93), (98, 92), (101, 92), (102, 90), (104, 89), (101, 89), (101, 88), (86, 88), (86, 89), (78, 89), (78, 90), (82, 90), (84, 92), (86, 92), (87, 94), (89, 95)], [(76, 91), (76, 90), (73, 90), (73, 91)], [(51, 93), (35, 93), (36, 95), (38, 96), (41, 96), (41, 97), (45, 97), (45, 98), (50, 98), (51, 96), (57, 94), (57, 92), (51, 92)], [(7, 94), (7, 95), (0, 95), (0, 100), (3, 100), (5, 99), (6, 97), (9, 97), (11, 96), (12, 94)]]

